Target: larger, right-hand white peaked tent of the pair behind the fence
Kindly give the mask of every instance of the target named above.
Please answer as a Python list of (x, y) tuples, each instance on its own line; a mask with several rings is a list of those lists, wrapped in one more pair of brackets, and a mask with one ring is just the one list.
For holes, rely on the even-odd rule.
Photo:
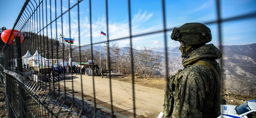
[[(46, 58), (45, 58), (46, 59)], [(39, 53), (35, 52), (30, 58), (28, 58), (30, 66), (43, 66), (44, 57), (39, 55)]]

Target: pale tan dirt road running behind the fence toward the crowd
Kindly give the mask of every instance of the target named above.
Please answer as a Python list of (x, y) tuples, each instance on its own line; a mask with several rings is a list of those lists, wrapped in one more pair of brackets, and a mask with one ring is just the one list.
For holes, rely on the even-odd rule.
[[(71, 78), (71, 74), (65, 74)], [(92, 76), (82, 75), (84, 94), (93, 96)], [(64, 85), (64, 81), (60, 81)], [(81, 75), (73, 74), (74, 91), (81, 92)], [(109, 78), (94, 77), (96, 98), (110, 103)], [(132, 84), (111, 79), (113, 105), (133, 112)], [(72, 89), (71, 79), (66, 80), (66, 87)], [(163, 111), (164, 90), (135, 85), (136, 114), (147, 117), (147, 114), (156, 116)]]

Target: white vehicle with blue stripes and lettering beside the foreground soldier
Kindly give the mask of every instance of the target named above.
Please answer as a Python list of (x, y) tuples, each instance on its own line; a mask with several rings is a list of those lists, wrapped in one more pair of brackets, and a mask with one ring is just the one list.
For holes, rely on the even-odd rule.
[(256, 118), (256, 102), (247, 102), (239, 106), (220, 105), (218, 118)]

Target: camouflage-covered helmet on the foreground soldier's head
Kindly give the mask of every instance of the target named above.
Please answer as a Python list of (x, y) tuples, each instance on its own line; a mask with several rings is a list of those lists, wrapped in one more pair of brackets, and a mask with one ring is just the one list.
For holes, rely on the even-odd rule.
[(212, 41), (212, 34), (210, 28), (202, 23), (186, 23), (173, 28), (171, 39), (189, 45), (205, 44)]

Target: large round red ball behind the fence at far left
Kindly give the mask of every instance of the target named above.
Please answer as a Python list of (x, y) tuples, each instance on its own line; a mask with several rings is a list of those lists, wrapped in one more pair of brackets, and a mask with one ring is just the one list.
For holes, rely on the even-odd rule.
[[(11, 34), (11, 31), (12, 31), (11, 29), (8, 29), (8, 30), (4, 30), (4, 31), (2, 32), (1, 38), (2, 38), (2, 40), (3, 40), (5, 43), (7, 43), (8, 38), (9, 38), (9, 36), (10, 36), (10, 34)], [(23, 35), (22, 35), (22, 33), (21, 33), (20, 31), (18, 31), (18, 30), (13, 30), (12, 36), (11, 36), (11, 38), (10, 38), (10, 41), (9, 41), (7, 44), (11, 44), (11, 42), (12, 42), (13, 39), (14, 39), (14, 36), (20, 36), (20, 43), (23, 41)], [(15, 42), (12, 43), (12, 44), (15, 45)]]

